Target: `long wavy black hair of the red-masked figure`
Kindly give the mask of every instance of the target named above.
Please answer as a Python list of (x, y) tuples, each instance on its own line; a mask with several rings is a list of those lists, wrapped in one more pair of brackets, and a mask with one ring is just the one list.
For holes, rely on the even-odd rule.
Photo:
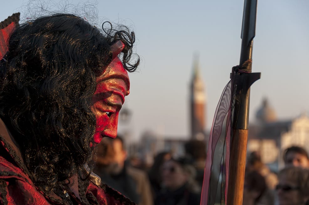
[(135, 37), (128, 29), (104, 33), (81, 17), (54, 14), (20, 25), (9, 38), (0, 63), (0, 115), (45, 193), (67, 187), (92, 160), (91, 98), (118, 40), (125, 44), (124, 67), (133, 72), (139, 57), (130, 63)]

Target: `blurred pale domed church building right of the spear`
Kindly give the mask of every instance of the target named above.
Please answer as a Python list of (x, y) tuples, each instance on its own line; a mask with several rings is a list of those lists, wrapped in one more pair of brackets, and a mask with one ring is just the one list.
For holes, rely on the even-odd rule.
[(292, 145), (309, 151), (309, 118), (306, 114), (290, 120), (278, 120), (275, 109), (263, 99), (256, 112), (257, 122), (250, 124), (247, 152), (258, 151), (263, 163), (277, 172), (283, 167), (282, 153)]

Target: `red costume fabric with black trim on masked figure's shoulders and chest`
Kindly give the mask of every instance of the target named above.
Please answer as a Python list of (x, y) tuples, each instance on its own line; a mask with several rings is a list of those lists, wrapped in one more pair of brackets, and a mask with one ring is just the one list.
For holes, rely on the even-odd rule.
[(45, 195), (30, 179), (21, 153), (13, 142), (13, 137), (0, 119), (0, 204), (135, 204), (105, 184), (97, 187), (87, 179), (81, 180), (78, 174), (70, 181), (72, 181), (71, 189), (75, 187), (80, 197), (76, 197), (72, 190), (68, 191), (69, 200), (64, 200), (55, 193)]

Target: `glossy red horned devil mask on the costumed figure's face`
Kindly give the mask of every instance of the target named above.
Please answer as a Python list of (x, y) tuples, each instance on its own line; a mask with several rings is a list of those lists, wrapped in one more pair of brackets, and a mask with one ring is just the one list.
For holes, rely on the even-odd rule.
[(124, 97), (129, 94), (128, 72), (120, 59), (116, 57), (106, 71), (97, 77), (96, 91), (92, 97), (92, 112), (97, 124), (94, 142), (100, 143), (103, 137), (116, 138), (119, 111)]

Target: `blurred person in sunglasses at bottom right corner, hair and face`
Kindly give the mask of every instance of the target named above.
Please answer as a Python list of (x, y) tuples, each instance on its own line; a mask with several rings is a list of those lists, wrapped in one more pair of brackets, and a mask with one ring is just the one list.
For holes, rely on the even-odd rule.
[(279, 173), (276, 186), (279, 205), (309, 204), (309, 170), (301, 167), (287, 167)]

